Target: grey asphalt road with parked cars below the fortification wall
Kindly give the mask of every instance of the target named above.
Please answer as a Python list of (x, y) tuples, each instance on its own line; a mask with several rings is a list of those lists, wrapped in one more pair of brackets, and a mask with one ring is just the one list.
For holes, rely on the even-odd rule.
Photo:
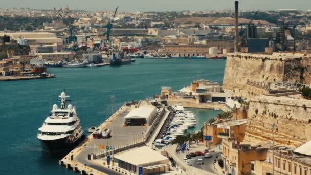
[[(216, 156), (218, 156), (218, 158), (216, 158)], [(221, 152), (216, 152), (213, 154), (213, 156), (211, 158), (204, 158), (204, 156), (196, 156), (193, 157), (191, 159), (189, 159), (190, 164), (192, 164), (192, 166), (214, 173), (214, 174), (218, 174), (217, 171), (215, 171), (214, 169), (214, 160), (216, 159), (216, 161), (220, 158), (221, 156)], [(202, 159), (204, 164), (197, 164), (197, 159)]]

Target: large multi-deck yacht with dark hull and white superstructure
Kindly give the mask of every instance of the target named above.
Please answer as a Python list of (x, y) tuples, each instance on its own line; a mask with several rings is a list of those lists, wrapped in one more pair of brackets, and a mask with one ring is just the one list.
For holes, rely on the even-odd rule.
[(85, 138), (76, 108), (71, 104), (66, 105), (66, 102), (71, 102), (66, 100), (69, 96), (62, 92), (59, 97), (60, 108), (57, 104), (53, 105), (37, 134), (42, 150), (48, 154), (69, 152)]

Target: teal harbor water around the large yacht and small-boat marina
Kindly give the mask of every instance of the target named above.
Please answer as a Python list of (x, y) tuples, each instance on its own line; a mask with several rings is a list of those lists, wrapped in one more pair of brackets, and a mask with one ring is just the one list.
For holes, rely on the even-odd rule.
[[(57, 78), (0, 82), (1, 174), (75, 174), (58, 165), (59, 157), (40, 150), (37, 129), (65, 89), (86, 131), (98, 126), (131, 100), (160, 94), (161, 86), (177, 91), (193, 79), (222, 83), (226, 60), (136, 59), (131, 65), (95, 68), (49, 68)], [(191, 109), (203, 125), (219, 111)], [(197, 126), (199, 129), (202, 126)]]

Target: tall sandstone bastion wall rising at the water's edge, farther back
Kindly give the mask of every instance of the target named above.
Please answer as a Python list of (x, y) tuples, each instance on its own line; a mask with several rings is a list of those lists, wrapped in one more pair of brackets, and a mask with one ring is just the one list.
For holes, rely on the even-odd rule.
[(223, 89), (246, 96), (246, 82), (311, 83), (311, 59), (303, 55), (228, 54)]

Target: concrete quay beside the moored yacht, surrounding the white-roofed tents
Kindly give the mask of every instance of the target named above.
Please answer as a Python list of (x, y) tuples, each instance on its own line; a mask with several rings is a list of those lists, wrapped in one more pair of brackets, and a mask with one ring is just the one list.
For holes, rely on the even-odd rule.
[[(146, 101), (141, 101), (139, 104), (141, 103), (145, 104)], [(104, 158), (107, 155), (112, 155), (112, 151), (98, 149), (98, 145), (114, 146), (114, 154), (142, 146), (145, 143), (148, 146), (152, 146), (152, 142), (158, 134), (157, 132), (159, 132), (165, 117), (169, 114), (168, 110), (162, 108), (162, 112), (159, 113), (159, 116), (151, 125), (123, 127), (123, 119), (130, 110), (131, 107), (122, 106), (98, 127), (101, 129), (111, 129), (112, 137), (108, 139), (93, 139), (92, 135), (88, 136), (83, 143), (59, 161), (60, 165), (65, 165), (66, 168), (72, 168), (73, 171), (79, 171), (81, 174), (122, 174), (122, 172), (123, 174), (130, 174), (126, 170), (119, 172), (116, 171), (116, 167), (114, 170), (114, 166), (106, 165)], [(90, 158), (91, 154), (93, 154), (92, 158)]]

